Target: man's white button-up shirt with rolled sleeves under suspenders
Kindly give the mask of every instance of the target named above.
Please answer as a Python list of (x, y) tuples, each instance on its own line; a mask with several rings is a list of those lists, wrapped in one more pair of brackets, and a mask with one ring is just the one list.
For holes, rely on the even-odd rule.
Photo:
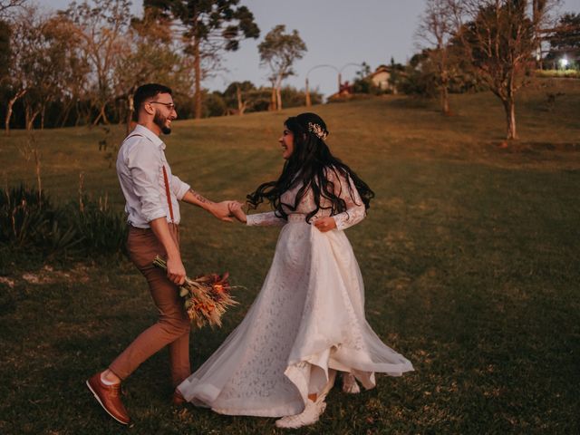
[(163, 167), (169, 180), (173, 222), (179, 224), (179, 200), (189, 190), (189, 184), (171, 173), (164, 150), (163, 140), (140, 124), (121, 145), (117, 175), (126, 200), (127, 221), (133, 227), (149, 228), (151, 220), (162, 217), (171, 221)]

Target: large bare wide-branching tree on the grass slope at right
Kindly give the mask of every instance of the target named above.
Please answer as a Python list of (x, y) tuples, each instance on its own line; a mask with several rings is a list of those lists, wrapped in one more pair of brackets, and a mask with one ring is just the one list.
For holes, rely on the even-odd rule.
[(502, 102), (507, 139), (517, 139), (516, 95), (534, 69), (537, 27), (546, 18), (549, 2), (529, 11), (527, 0), (462, 0), (457, 43), (478, 78)]

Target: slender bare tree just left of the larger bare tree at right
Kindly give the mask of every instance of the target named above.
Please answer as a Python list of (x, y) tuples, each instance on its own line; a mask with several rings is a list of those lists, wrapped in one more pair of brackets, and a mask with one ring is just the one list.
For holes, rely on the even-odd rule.
[(441, 111), (449, 114), (449, 82), (454, 72), (452, 46), (457, 33), (454, 0), (427, 0), (425, 11), (420, 17), (417, 38), (434, 67), (436, 86), (440, 92)]

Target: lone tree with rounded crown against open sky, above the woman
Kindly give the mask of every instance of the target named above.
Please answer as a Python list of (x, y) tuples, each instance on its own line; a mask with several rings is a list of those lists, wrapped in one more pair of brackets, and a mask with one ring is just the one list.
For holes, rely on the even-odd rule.
[(272, 95), (275, 97), (275, 107), (282, 110), (282, 82), (290, 75), (294, 75), (292, 65), (296, 60), (302, 59), (306, 52), (306, 44), (293, 30), (291, 34), (285, 34), (284, 24), (276, 25), (264, 38), (257, 49), (260, 53), (260, 61), (263, 65), (268, 65), (272, 75)]

